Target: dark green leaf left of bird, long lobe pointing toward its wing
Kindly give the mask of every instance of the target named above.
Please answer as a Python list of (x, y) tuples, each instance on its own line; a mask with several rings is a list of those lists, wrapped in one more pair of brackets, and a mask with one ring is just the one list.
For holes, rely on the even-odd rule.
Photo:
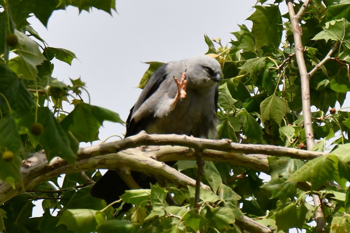
[(98, 129), (103, 121), (124, 124), (119, 114), (87, 103), (79, 103), (61, 122), (62, 128), (71, 131), (79, 142), (98, 140)]

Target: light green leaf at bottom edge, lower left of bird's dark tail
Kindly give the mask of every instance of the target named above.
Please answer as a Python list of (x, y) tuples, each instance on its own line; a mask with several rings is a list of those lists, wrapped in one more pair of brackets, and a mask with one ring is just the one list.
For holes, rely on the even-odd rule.
[(94, 232), (100, 223), (106, 220), (104, 213), (89, 209), (66, 210), (57, 223), (64, 224), (69, 230), (81, 233)]

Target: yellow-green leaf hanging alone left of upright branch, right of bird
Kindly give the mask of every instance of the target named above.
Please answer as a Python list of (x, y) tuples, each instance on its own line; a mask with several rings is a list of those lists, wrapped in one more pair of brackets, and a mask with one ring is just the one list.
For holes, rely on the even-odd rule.
[(290, 112), (290, 109), (283, 99), (276, 95), (271, 95), (261, 102), (260, 111), (262, 123), (272, 118), (279, 126), (281, 126), (283, 117), (286, 113)]

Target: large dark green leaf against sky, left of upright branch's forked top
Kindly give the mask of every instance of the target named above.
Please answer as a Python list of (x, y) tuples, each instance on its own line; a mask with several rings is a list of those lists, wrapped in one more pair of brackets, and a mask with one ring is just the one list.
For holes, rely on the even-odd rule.
[(253, 22), (255, 50), (264, 45), (274, 44), (278, 48), (282, 38), (282, 17), (278, 5), (255, 6), (255, 12), (247, 18)]

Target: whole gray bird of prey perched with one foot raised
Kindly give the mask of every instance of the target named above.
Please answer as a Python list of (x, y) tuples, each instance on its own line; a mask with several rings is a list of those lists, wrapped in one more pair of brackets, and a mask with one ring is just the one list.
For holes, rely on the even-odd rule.
[[(218, 82), (221, 81), (221, 76), (219, 62), (205, 55), (162, 65), (149, 78), (130, 110), (125, 137), (145, 130), (149, 134), (175, 133), (216, 138)], [(174, 163), (167, 164), (172, 166)], [(132, 172), (131, 175), (141, 188), (149, 188), (150, 182), (156, 182), (138, 172)], [(118, 173), (108, 170), (94, 184), (91, 195), (102, 198), (109, 204), (118, 200), (127, 189), (127, 184)], [(119, 205), (117, 203), (114, 207)], [(124, 205), (122, 212), (130, 207), (131, 205)]]

